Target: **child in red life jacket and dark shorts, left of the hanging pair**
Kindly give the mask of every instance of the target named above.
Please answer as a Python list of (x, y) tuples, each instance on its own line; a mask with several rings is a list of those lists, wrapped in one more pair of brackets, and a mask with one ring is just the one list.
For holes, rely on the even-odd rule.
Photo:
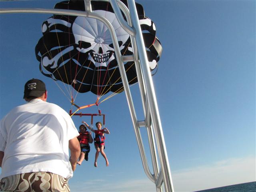
[(88, 161), (88, 154), (90, 152), (89, 143), (92, 143), (93, 140), (91, 135), (92, 132), (89, 133), (88, 131), (86, 131), (86, 127), (83, 124), (80, 125), (79, 130), (80, 135), (77, 138), (80, 142), (81, 154), (77, 164), (81, 165), (84, 159)]

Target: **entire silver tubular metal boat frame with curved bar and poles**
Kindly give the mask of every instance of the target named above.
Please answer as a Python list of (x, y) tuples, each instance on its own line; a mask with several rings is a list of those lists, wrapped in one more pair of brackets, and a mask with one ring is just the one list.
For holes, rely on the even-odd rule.
[[(1, 0), (3, 1), (3, 0)], [(102, 1), (102, 0), (101, 0)], [(12, 8), (12, 9), (0, 9), (0, 14), (7, 13), (46, 13), (46, 14), (64, 14), (72, 16), (84, 16), (89, 18), (95, 18), (103, 22), (109, 29), (114, 49), (116, 53), (116, 60), (118, 61), (118, 67), (122, 82), (124, 85), (124, 91), (134, 126), (136, 140), (142, 159), (142, 165), (148, 178), (155, 183), (156, 191), (162, 192), (162, 184), (164, 183), (165, 191), (173, 192), (173, 184), (170, 173), (170, 166), (166, 151), (166, 145), (164, 142), (164, 136), (162, 131), (162, 125), (160, 121), (160, 115), (158, 105), (156, 102), (156, 94), (152, 83), (152, 77), (150, 69), (148, 67), (148, 60), (142, 32), (138, 20), (137, 10), (134, 0), (128, 0), (128, 8), (120, 0), (104, 0), (109, 1), (112, 5), (116, 18), (119, 24), (124, 30), (130, 34), (132, 49), (134, 54), (129, 56), (122, 56), (120, 48), (118, 46), (118, 40), (111, 23), (104, 17), (92, 12), (91, 0), (84, 0), (85, 12), (75, 10), (60, 10), (60, 9), (29, 9), (29, 8)], [(124, 20), (121, 10), (126, 17), (127, 22)], [(140, 88), (140, 95), (142, 100), (142, 107), (144, 110), (144, 120), (138, 120), (136, 111), (134, 108), (132, 94), (128, 84), (126, 72), (123, 62), (134, 61), (136, 65), (136, 72), (138, 77), (138, 84)], [(148, 167), (148, 161), (146, 158), (145, 149), (140, 134), (140, 128), (145, 127), (148, 134), (148, 142), (152, 160), (153, 173), (150, 172)], [(156, 143), (155, 143), (156, 140)], [(156, 150), (157, 149), (157, 150)], [(160, 168), (158, 165), (158, 158), (160, 160)]]

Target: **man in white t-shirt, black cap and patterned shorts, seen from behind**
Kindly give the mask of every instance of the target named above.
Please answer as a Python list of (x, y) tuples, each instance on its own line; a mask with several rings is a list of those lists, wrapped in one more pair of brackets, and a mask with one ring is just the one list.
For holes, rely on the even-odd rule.
[(0, 123), (0, 190), (68, 192), (80, 155), (79, 133), (68, 113), (46, 102), (41, 80), (26, 82), (24, 99)]

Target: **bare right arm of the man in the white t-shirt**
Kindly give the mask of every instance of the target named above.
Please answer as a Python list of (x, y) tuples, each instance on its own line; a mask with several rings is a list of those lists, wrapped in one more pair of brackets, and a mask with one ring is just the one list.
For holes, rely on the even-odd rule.
[(76, 170), (76, 162), (80, 156), (81, 149), (78, 139), (75, 137), (70, 139), (68, 142), (68, 147), (70, 149), (70, 164), (72, 166), (72, 170)]

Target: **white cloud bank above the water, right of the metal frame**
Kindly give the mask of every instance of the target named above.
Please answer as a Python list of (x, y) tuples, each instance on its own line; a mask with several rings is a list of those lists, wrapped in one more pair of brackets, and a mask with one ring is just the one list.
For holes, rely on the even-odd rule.
[(172, 172), (175, 192), (204, 190), (256, 181), (255, 157), (232, 158)]

